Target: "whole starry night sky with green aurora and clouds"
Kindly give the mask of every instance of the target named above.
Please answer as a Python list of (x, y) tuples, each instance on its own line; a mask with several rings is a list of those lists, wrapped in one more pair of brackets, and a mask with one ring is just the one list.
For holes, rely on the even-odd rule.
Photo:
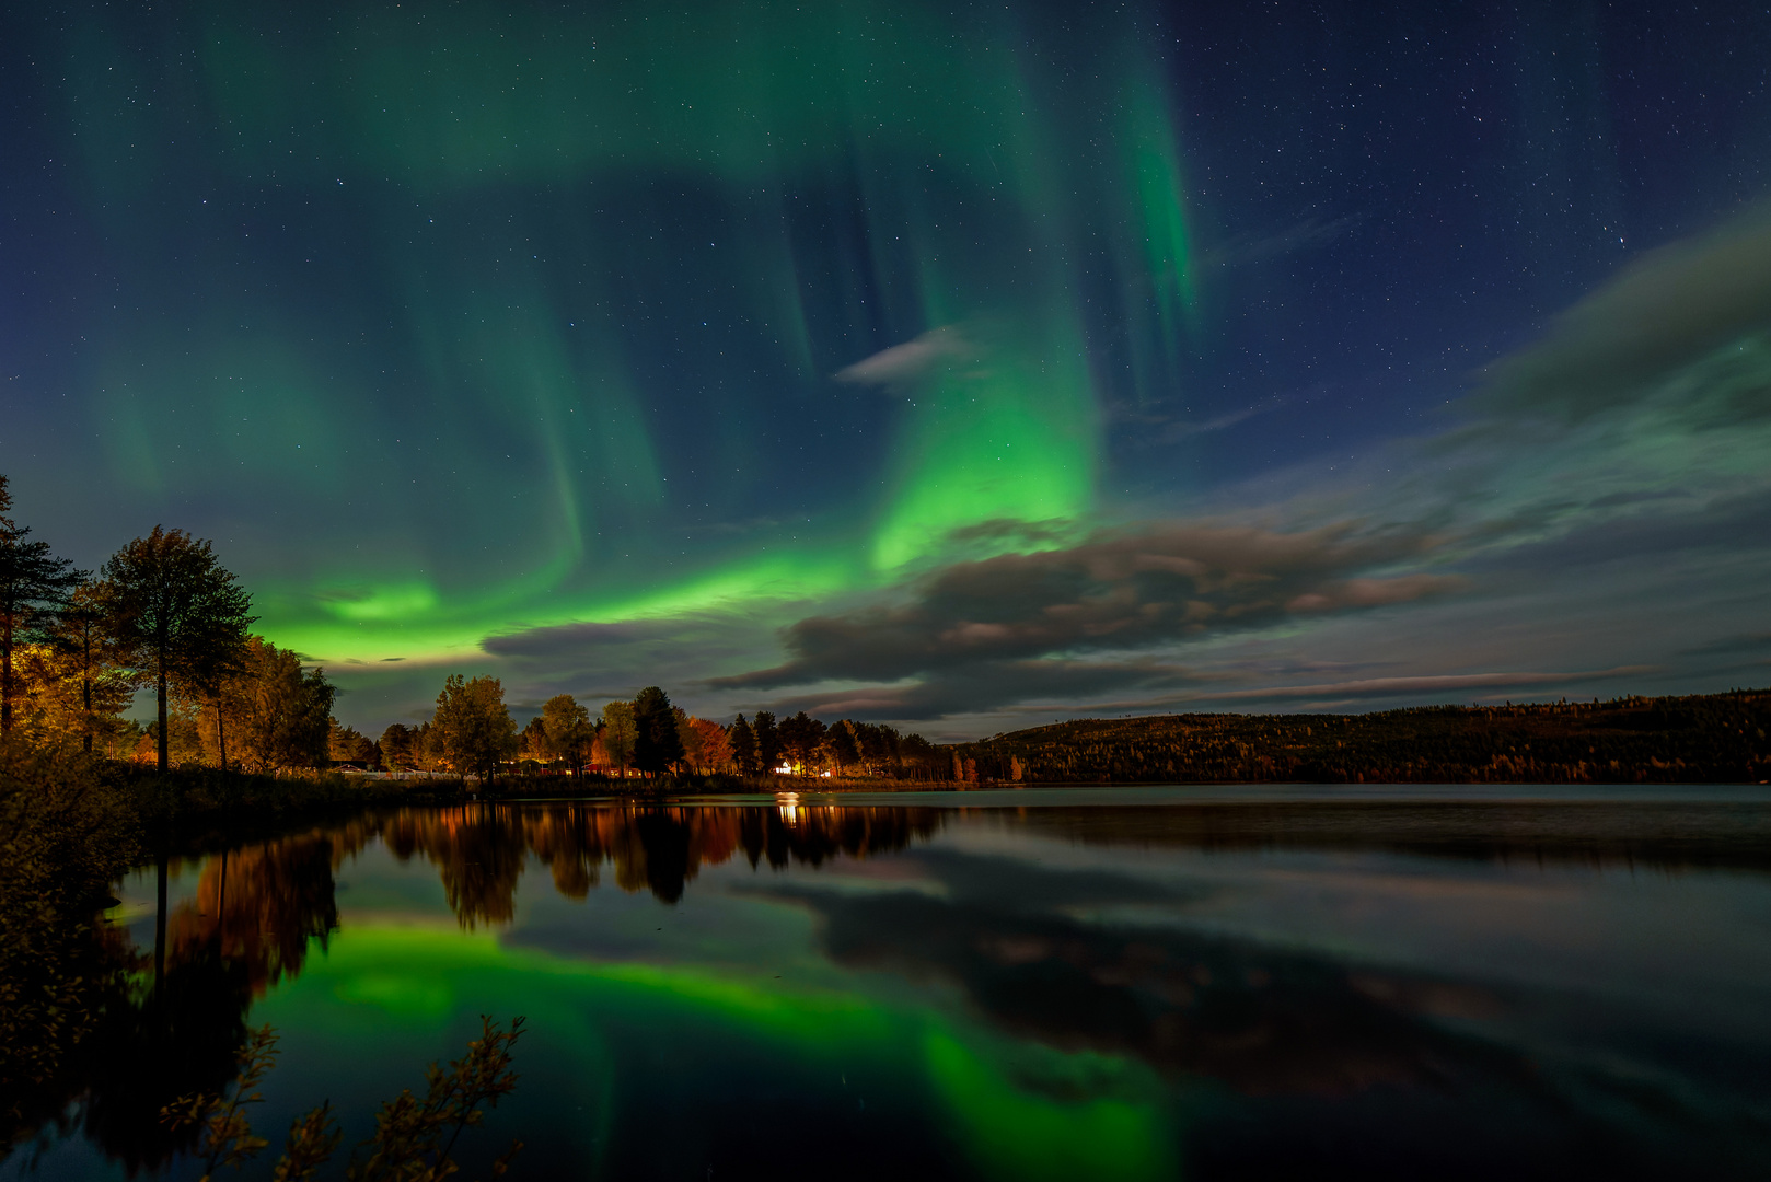
[(0, 471), (338, 714), (1771, 682), (1744, 5), (12, 4)]

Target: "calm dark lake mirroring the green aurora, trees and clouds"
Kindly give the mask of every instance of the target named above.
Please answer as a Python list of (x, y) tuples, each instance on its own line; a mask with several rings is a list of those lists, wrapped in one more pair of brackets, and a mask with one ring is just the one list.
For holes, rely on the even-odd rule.
[[(1185, 787), (468, 805), (170, 859), (159, 1033), (0, 1178), (195, 1178), (246, 1026), (347, 1145), (528, 1019), (514, 1178), (1766, 1177), (1771, 792)], [(133, 1033), (131, 1033), (133, 1031)], [(230, 1177), (223, 1171), (220, 1177)]]

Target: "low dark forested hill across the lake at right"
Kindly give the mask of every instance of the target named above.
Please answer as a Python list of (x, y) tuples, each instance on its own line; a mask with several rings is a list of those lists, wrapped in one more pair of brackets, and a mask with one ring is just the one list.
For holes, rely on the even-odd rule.
[(1764, 783), (1771, 689), (1380, 714), (1089, 718), (953, 748), (955, 778), (1043, 783)]

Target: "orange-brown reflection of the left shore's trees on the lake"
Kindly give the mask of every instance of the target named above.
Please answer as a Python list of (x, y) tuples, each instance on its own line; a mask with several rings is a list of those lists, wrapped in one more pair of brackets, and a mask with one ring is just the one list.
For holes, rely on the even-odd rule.
[[(935, 810), (900, 808), (808, 810), (792, 824), (774, 808), (411, 808), (213, 854), (191, 897), (170, 909), (161, 856), (154, 946), (92, 927), (81, 968), (113, 984), (90, 1001), (97, 1053), (64, 1088), (80, 1099), (87, 1136), (131, 1175), (189, 1150), (193, 1132), (168, 1131), (159, 1109), (234, 1076), (251, 1003), (326, 952), (338, 929), (336, 870), (377, 840), (400, 861), (430, 861), (457, 921), (476, 929), (514, 920), (530, 854), (567, 898), (586, 898), (611, 865), (620, 890), (675, 904), (701, 867), (735, 856), (822, 865), (898, 851), (939, 826)], [(39, 1120), (60, 1124), (58, 1108), (44, 1104)]]

